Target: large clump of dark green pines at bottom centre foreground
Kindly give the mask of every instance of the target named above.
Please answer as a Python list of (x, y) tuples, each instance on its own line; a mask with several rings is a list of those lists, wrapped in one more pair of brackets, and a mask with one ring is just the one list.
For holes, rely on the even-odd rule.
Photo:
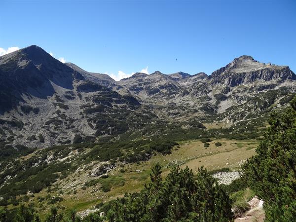
[[(162, 181), (161, 167), (155, 165), (151, 182), (140, 193), (126, 194), (107, 211), (111, 222), (169, 222), (232, 220), (229, 197), (215, 179), (203, 168), (198, 170), (197, 182), (193, 173), (174, 166)], [(105, 208), (105, 209), (104, 209)]]

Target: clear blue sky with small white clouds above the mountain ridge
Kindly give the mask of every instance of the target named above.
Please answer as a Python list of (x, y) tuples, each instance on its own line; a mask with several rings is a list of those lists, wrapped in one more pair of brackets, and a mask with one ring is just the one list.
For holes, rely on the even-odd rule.
[(295, 0), (1, 0), (0, 11), (0, 53), (36, 44), (115, 78), (211, 74), (241, 55), (296, 72)]

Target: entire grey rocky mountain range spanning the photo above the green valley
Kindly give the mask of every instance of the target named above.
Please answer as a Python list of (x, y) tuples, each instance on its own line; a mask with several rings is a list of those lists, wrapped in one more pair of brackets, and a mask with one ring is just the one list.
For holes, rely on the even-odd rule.
[[(153, 128), (254, 125), (296, 92), (287, 66), (235, 58), (211, 75), (136, 73), (120, 81), (63, 64), (36, 45), (0, 57), (3, 146), (46, 147)], [(261, 120), (260, 120), (261, 121)], [(214, 123), (213, 123), (214, 122)], [(78, 139), (77, 139), (78, 138)]]

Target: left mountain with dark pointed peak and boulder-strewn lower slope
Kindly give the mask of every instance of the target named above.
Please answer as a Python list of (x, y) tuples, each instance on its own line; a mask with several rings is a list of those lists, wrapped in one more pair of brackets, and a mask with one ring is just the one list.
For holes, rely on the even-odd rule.
[(153, 116), (126, 90), (113, 91), (122, 87), (108, 75), (65, 65), (35, 45), (1, 56), (0, 78), (4, 145), (82, 142), (123, 133)]

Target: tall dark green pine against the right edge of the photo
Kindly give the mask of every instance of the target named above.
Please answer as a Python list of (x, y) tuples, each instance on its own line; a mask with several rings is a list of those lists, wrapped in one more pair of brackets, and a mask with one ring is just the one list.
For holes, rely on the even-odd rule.
[(243, 177), (262, 198), (266, 221), (296, 218), (296, 97), (283, 113), (273, 113), (257, 155), (242, 167)]

